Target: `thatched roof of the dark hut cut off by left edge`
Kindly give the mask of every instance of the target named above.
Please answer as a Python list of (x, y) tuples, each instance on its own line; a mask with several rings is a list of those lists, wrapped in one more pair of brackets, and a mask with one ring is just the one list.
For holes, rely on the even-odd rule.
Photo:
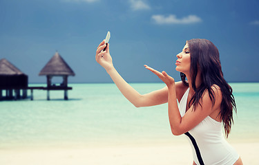
[[(22, 75), (21, 72), (15, 65), (12, 65), (6, 58), (0, 60), (0, 75), (4, 76), (15, 76), (15, 75)], [(23, 74), (26, 75), (26, 74)]]

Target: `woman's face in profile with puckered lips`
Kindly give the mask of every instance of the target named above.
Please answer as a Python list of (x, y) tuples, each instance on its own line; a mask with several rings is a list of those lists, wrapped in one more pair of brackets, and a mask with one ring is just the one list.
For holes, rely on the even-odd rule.
[(191, 54), (189, 45), (186, 42), (184, 49), (182, 49), (182, 52), (180, 52), (178, 55), (176, 55), (178, 60), (176, 61), (175, 70), (178, 72), (182, 72), (184, 74), (189, 74), (190, 67), (191, 67)]

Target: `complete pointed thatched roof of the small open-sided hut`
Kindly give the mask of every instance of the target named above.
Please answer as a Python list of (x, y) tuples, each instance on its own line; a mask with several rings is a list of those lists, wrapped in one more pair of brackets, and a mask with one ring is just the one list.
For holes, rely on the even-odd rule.
[(55, 53), (54, 56), (48, 61), (41, 72), (39, 72), (39, 76), (43, 75), (53, 75), (53, 76), (64, 76), (71, 75), (75, 76), (73, 70), (68, 66), (66, 61), (60, 56), (58, 52)]

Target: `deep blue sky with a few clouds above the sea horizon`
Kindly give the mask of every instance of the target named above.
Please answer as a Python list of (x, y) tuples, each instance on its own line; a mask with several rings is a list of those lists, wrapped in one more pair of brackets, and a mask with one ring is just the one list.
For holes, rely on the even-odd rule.
[(57, 51), (76, 74), (69, 83), (111, 83), (95, 61), (110, 31), (119, 74), (128, 83), (161, 83), (145, 64), (180, 80), (176, 54), (189, 39), (208, 39), (227, 82), (259, 82), (258, 8), (258, 0), (0, 0), (0, 59), (29, 83), (46, 83), (39, 72)]

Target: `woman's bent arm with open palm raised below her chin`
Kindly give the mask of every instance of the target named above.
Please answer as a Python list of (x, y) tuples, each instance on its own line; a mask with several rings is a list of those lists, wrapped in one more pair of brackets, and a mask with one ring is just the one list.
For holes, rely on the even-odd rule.
[(168, 87), (168, 109), (169, 109), (169, 122), (173, 135), (181, 135), (187, 131), (193, 129), (198, 125), (204, 118), (214, 111), (220, 110), (220, 103), (222, 100), (222, 93), (219, 87), (212, 86), (213, 94), (215, 94), (215, 104), (210, 99), (209, 92), (205, 91), (197, 107), (191, 107), (186, 111), (184, 116), (180, 115), (177, 102), (177, 86), (175, 80), (166, 74), (166, 72), (158, 72), (157, 70), (146, 66), (146, 69), (156, 74)]

